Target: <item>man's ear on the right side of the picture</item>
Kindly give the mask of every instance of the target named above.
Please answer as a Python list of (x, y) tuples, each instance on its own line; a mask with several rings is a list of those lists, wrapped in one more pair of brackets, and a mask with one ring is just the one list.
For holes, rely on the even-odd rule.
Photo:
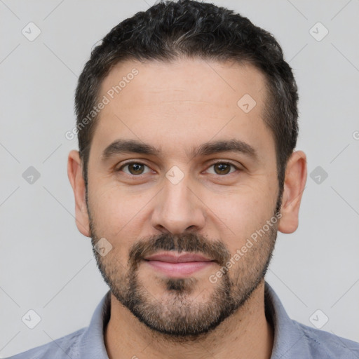
[(298, 215), (302, 194), (306, 185), (306, 154), (293, 152), (287, 161), (283, 189), (283, 201), (280, 208), (278, 231), (293, 233), (298, 228)]

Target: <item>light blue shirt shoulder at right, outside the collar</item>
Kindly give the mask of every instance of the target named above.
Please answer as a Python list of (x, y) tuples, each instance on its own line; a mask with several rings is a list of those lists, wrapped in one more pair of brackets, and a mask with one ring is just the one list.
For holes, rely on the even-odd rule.
[(293, 320), (293, 323), (302, 332), (313, 358), (359, 358), (359, 343), (298, 323), (296, 320)]

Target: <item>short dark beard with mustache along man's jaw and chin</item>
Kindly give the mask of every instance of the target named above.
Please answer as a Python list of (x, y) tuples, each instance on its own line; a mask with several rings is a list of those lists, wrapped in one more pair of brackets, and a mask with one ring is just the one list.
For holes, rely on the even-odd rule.
[[(161, 333), (166, 340), (177, 343), (205, 337), (245, 304), (264, 280), (276, 242), (277, 227), (278, 224), (270, 226), (260, 241), (248, 248), (248, 252), (233, 264), (231, 269), (224, 273), (222, 271), (223, 276), (217, 278), (216, 283), (208, 279), (208, 295), (204, 302), (199, 302), (193, 293), (198, 289), (198, 285), (203, 283), (198, 283), (195, 276), (161, 278), (161, 290), (163, 287), (165, 290), (161, 298), (154, 297), (154, 294), (147, 290), (147, 283), (139, 276), (140, 264), (144, 257), (159, 250), (197, 252), (214, 259), (220, 266), (211, 273), (214, 274), (220, 268), (226, 267), (226, 263), (231, 259), (231, 253), (222, 241), (208, 241), (196, 233), (176, 236), (162, 233), (144, 238), (130, 248), (126, 269), (116, 259), (116, 250), (110, 251), (104, 257), (95, 250), (100, 238), (97, 236), (93, 219), (90, 219), (93, 253), (111, 293), (149, 329)], [(197, 297), (199, 294), (201, 292)]]

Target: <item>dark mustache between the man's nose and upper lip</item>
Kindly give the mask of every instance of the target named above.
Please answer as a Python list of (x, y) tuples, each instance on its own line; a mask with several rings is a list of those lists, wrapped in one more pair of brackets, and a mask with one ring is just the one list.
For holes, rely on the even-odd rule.
[(129, 265), (135, 268), (144, 257), (153, 255), (160, 250), (202, 254), (210, 257), (220, 266), (225, 266), (231, 258), (231, 252), (222, 241), (208, 241), (207, 238), (196, 233), (181, 235), (162, 233), (159, 236), (151, 236), (135, 243), (130, 248)]

